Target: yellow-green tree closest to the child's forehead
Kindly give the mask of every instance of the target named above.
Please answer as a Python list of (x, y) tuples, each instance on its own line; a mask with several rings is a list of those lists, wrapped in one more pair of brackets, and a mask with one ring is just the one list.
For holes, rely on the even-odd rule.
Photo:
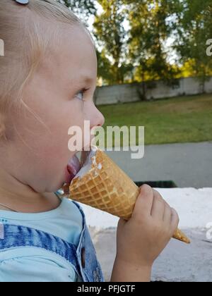
[(99, 75), (109, 83), (123, 83), (131, 65), (126, 63), (126, 16), (122, 0), (98, 0), (102, 13), (95, 17), (94, 35), (98, 42)]

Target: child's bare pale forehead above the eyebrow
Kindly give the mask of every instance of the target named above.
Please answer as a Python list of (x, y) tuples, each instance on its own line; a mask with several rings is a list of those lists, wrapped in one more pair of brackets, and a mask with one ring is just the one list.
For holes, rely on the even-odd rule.
[(97, 70), (93, 42), (83, 30), (61, 29), (55, 46), (51, 44), (42, 59), (40, 70), (45, 75), (63, 75), (89, 83), (96, 76)]

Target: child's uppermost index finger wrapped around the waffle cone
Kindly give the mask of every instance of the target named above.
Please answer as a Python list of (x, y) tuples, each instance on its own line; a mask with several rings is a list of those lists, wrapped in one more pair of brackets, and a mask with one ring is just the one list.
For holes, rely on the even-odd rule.
[(153, 189), (146, 184), (142, 185), (140, 187), (140, 195), (136, 200), (133, 216), (141, 216), (142, 214), (150, 216), (153, 205), (153, 197)]

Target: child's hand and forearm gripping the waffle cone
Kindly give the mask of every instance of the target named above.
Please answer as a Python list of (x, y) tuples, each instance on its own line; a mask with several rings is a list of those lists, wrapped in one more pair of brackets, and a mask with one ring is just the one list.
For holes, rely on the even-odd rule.
[[(179, 223), (177, 212), (170, 208), (159, 192), (148, 185), (141, 186), (140, 190), (131, 219), (119, 220), (114, 264), (114, 273), (119, 270), (119, 275), (123, 269), (125, 272), (131, 270), (131, 273), (147, 271), (150, 275), (153, 262), (170, 241)], [(131, 276), (132, 280), (136, 280), (136, 276)], [(122, 281), (119, 276), (114, 276), (114, 279)], [(130, 281), (130, 276), (126, 280)]]

